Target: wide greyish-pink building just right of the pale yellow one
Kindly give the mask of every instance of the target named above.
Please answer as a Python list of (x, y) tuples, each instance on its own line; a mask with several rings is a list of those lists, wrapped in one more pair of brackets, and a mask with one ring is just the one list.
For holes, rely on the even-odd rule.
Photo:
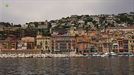
[(75, 36), (52, 35), (53, 52), (70, 52), (76, 50)]

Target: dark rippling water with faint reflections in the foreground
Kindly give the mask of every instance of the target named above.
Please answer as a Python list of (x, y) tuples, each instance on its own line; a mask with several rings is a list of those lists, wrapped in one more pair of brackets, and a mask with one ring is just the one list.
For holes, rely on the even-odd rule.
[(134, 57), (1, 58), (0, 75), (134, 75)]

